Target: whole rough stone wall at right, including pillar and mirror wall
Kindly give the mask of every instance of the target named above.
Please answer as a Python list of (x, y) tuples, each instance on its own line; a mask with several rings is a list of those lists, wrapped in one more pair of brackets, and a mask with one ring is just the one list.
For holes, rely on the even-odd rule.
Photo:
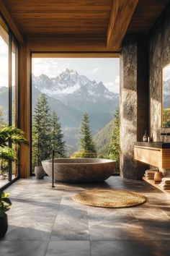
[[(161, 132), (161, 71), (170, 63), (170, 4), (146, 35), (126, 36), (120, 54), (120, 172), (140, 179), (148, 167), (134, 160), (133, 145), (145, 130), (153, 141)], [(166, 138), (170, 142), (170, 137)]]

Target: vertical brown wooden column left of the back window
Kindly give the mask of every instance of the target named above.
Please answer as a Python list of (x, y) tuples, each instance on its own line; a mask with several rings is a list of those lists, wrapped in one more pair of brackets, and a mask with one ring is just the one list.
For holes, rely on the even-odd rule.
[(30, 176), (30, 77), (31, 56), (27, 44), (19, 47), (19, 128), (24, 131), (29, 145), (19, 150), (20, 177)]

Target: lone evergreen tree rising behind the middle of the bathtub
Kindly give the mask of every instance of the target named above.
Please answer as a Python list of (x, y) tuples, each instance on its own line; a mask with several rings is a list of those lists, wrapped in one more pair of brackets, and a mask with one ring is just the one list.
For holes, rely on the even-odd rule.
[(97, 150), (95, 148), (93, 138), (89, 127), (89, 115), (84, 114), (81, 119), (81, 128), (79, 135), (79, 150), (82, 157), (96, 157)]

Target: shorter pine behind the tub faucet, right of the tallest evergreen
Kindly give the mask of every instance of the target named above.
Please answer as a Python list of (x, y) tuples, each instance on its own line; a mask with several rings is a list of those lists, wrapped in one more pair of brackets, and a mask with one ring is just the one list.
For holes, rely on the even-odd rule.
[(51, 146), (53, 150), (58, 150), (60, 157), (64, 158), (66, 157), (65, 141), (63, 141), (61, 123), (55, 111), (51, 115), (51, 129)]

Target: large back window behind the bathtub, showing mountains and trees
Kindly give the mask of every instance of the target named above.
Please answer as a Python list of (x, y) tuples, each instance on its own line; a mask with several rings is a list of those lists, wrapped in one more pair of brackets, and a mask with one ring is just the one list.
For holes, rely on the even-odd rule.
[[(32, 54), (32, 173), (51, 158), (52, 149), (60, 152), (58, 157), (111, 158), (118, 163), (119, 58), (38, 56)], [(86, 150), (80, 141), (84, 114), (95, 150)]]

